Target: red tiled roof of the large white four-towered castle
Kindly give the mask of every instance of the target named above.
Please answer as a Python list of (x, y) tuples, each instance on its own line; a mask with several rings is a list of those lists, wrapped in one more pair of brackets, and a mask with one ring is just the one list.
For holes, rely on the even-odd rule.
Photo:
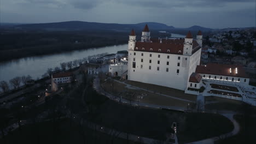
[[(159, 53), (172, 53), (177, 55), (183, 55), (184, 39), (162, 39), (160, 43), (159, 39), (150, 39), (150, 42), (136, 42), (135, 51), (147, 51), (147, 52), (159, 52)], [(142, 49), (144, 48), (144, 50)], [(150, 50), (152, 49), (152, 50)], [(159, 49), (161, 51), (159, 51)], [(200, 49), (200, 46), (195, 40), (193, 40), (193, 53)], [(170, 51), (168, 51), (170, 50)]]

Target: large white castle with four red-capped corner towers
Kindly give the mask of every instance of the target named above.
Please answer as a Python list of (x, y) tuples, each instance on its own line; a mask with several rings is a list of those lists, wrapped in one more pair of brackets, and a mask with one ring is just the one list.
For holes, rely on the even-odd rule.
[(180, 39), (150, 39), (148, 26), (141, 40), (135, 31), (129, 36), (128, 80), (181, 89), (188, 87), (191, 74), (200, 65), (202, 33), (196, 40), (190, 31)]

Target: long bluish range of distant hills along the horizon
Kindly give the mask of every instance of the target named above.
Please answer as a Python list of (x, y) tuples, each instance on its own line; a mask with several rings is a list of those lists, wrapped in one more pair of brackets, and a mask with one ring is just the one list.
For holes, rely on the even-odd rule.
[(168, 31), (168, 30), (183, 30), (183, 31), (212, 31), (211, 28), (205, 28), (201, 26), (192, 26), (189, 28), (174, 28), (173, 26), (167, 26), (164, 23), (158, 22), (142, 22), (136, 24), (119, 24), (119, 23), (99, 23), (99, 22), (84, 22), (84, 21), (66, 21), (66, 22), (53, 22), (53, 23), (34, 23), (25, 25), (15, 25), (14, 27), (22, 28), (26, 30), (41, 29), (46, 31), (142, 31), (144, 26), (148, 24), (149, 30), (155, 31)]

